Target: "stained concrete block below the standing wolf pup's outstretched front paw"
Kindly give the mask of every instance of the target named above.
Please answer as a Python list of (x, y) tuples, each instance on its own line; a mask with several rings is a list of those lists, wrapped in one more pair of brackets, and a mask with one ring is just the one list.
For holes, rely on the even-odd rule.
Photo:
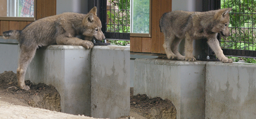
[(256, 117), (256, 65), (206, 64), (206, 118)]

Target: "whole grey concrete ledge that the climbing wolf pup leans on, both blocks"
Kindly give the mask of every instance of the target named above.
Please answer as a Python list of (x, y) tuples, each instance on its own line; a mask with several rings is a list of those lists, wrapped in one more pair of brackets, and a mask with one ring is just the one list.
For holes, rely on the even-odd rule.
[[(82, 46), (50, 45), (37, 50), (28, 66), (26, 80), (55, 86), (61, 95), (62, 112), (99, 118), (127, 116), (129, 54), (130, 48), (122, 46), (93, 46), (88, 50)], [(105, 103), (110, 100), (111, 103)]]

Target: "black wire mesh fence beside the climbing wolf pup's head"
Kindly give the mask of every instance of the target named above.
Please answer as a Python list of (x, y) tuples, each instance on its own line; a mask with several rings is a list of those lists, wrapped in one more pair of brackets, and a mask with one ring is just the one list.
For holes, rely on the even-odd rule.
[(107, 39), (130, 39), (130, 0), (102, 2), (102, 30)]

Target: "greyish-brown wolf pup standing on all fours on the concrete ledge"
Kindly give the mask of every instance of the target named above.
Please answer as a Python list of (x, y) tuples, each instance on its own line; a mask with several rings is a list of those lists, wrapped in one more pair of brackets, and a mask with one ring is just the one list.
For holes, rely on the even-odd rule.
[[(220, 61), (232, 63), (223, 54), (219, 41), (216, 38), (220, 33), (228, 37), (230, 35), (229, 12), (232, 8), (219, 9), (208, 12), (173, 11), (164, 13), (159, 25), (164, 33), (164, 49), (168, 59), (195, 61), (193, 56), (193, 40), (208, 39), (208, 44)], [(185, 39), (185, 56), (178, 51), (181, 40)]]

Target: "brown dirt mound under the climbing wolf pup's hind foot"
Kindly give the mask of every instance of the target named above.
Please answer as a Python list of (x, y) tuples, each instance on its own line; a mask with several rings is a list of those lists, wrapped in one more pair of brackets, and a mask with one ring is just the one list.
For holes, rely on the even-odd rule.
[(0, 74), (0, 100), (15, 105), (61, 111), (61, 97), (55, 87), (41, 83), (33, 85), (30, 81), (25, 81), (25, 83), (31, 90), (17, 88), (17, 75), (12, 71), (4, 71)]

